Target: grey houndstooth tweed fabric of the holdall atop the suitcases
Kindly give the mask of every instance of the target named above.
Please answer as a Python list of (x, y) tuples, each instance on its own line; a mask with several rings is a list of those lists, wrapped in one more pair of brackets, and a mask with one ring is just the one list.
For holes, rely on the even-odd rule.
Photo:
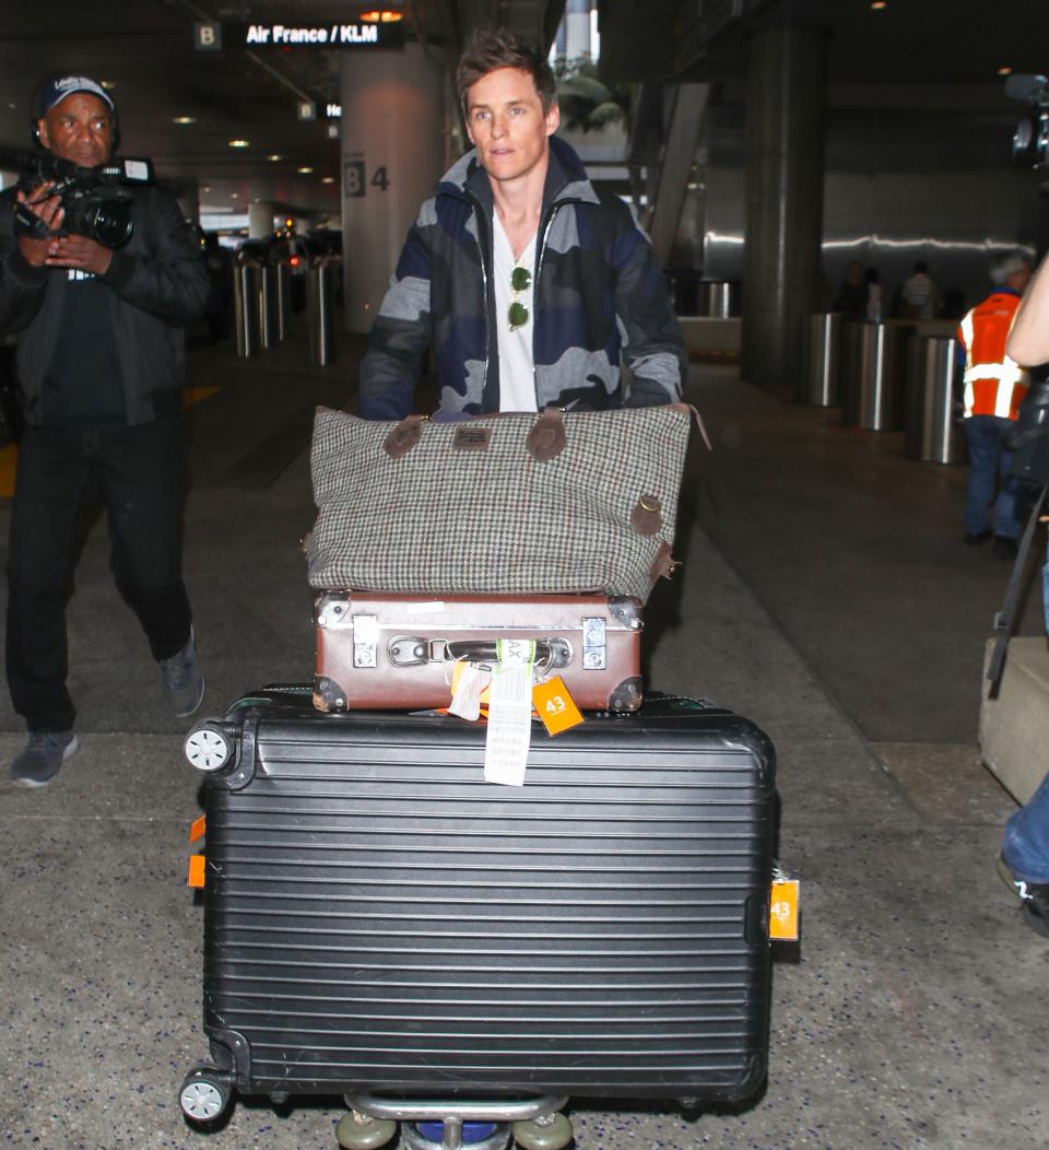
[[(310, 454), (319, 515), (309, 582), (319, 589), (447, 595), (594, 591), (648, 598), (661, 546), (672, 546), (688, 444), (686, 407), (564, 414), (566, 444), (537, 462), (525, 440), (538, 415), (424, 422), (391, 459), (396, 425), (318, 408)], [(488, 429), (487, 450), (456, 434)], [(641, 496), (662, 527), (631, 526)]]

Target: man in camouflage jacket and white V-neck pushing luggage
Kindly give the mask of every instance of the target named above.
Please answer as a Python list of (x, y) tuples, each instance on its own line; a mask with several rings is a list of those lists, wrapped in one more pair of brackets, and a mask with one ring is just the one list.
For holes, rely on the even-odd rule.
[(409, 414), (431, 342), (445, 417), (679, 399), (687, 360), (666, 281), (631, 208), (554, 136), (543, 55), (475, 32), (456, 84), (473, 148), (408, 235), (361, 366), (360, 414)]

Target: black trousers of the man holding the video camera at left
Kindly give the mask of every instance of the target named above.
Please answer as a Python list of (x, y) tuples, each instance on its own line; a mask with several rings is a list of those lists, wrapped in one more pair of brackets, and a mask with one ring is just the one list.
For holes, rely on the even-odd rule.
[(7, 682), (30, 730), (70, 730), (65, 603), (84, 496), (97, 483), (110, 567), (154, 659), (190, 637), (182, 567), (182, 421), (139, 427), (29, 427), (18, 450), (7, 561)]

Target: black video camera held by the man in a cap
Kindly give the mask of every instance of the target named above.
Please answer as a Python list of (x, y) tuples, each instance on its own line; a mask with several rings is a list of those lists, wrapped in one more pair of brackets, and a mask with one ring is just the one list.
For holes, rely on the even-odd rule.
[(113, 159), (97, 168), (82, 168), (49, 152), (0, 148), (0, 167), (18, 171), (18, 190), (31, 192), (46, 182), (51, 195), (62, 201), (65, 216), (60, 232), (51, 232), (44, 221), (24, 204), (15, 205), (15, 235), (47, 239), (53, 235), (87, 236), (102, 247), (123, 247), (131, 239), (131, 195), (128, 187), (153, 183), (151, 160)]

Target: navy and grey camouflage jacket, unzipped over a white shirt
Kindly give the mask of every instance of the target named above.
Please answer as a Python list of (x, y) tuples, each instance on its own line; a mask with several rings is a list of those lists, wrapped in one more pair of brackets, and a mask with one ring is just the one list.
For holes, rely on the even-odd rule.
[[(499, 411), (499, 352), (489, 317), (493, 199), (468, 152), (419, 209), (361, 367), (364, 419), (402, 419), (431, 340), (440, 407)], [(618, 197), (550, 138), (535, 245), (537, 407), (645, 407), (680, 399), (685, 345), (648, 237)], [(620, 356), (631, 382), (622, 394)]]

